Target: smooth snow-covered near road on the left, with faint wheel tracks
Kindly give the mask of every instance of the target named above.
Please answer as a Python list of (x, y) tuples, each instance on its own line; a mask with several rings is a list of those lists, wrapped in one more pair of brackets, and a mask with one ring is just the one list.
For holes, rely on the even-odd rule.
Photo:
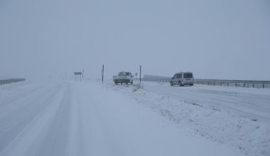
[(242, 155), (96, 82), (0, 88), (0, 155)]

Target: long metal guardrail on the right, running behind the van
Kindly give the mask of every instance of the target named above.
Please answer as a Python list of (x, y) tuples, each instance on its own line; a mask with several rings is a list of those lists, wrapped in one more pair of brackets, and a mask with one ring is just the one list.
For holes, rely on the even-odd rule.
[[(134, 79), (139, 81), (139, 79)], [(171, 79), (141, 79), (142, 82), (170, 82)], [(252, 80), (225, 80), (225, 79), (195, 79), (194, 84), (225, 86), (225, 87), (244, 87), (244, 88), (270, 88), (270, 81)]]

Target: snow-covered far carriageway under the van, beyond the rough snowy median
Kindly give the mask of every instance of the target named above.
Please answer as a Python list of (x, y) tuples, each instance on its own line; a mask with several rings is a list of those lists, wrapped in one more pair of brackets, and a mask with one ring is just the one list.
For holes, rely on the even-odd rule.
[(188, 103), (229, 110), (238, 116), (252, 120), (270, 122), (270, 89), (242, 87), (214, 87), (195, 85), (194, 87), (171, 87), (167, 84), (144, 83), (144, 89), (160, 96), (170, 96)]

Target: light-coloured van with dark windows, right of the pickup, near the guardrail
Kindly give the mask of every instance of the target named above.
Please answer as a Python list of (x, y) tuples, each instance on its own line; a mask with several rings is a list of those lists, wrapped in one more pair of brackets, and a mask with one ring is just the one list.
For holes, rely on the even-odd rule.
[(171, 86), (173, 85), (190, 85), (193, 86), (194, 84), (194, 78), (192, 72), (178, 72), (174, 74), (174, 76), (171, 78), (170, 82)]

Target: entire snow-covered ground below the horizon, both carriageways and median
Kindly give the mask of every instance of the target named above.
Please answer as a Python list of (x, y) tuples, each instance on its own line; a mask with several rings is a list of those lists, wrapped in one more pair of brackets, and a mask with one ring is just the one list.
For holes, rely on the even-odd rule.
[(6, 84), (0, 155), (270, 155), (269, 98), (270, 89)]

